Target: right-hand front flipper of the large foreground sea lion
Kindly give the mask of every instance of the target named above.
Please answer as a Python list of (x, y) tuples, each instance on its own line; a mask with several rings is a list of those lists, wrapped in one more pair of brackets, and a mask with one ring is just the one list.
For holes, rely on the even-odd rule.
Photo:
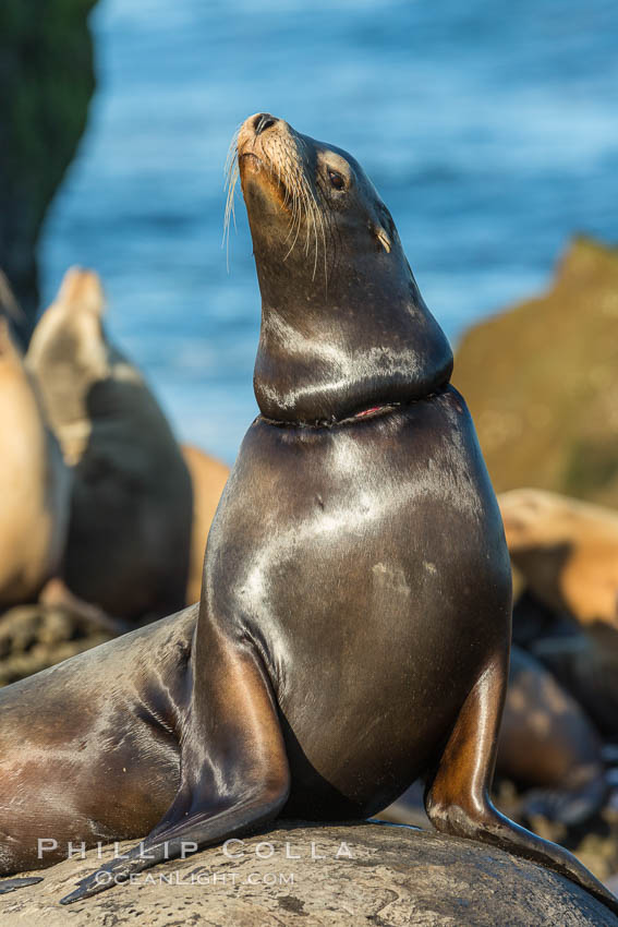
[(436, 830), (499, 846), (566, 876), (618, 914), (618, 900), (567, 850), (519, 827), (492, 804), (508, 655), (492, 661), (468, 696), (428, 783), (425, 809)]

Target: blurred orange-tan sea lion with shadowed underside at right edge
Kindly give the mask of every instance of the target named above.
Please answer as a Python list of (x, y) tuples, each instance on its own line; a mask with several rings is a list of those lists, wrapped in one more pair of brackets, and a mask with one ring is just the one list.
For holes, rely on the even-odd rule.
[[(542, 490), (500, 496), (511, 558), (555, 619), (530, 648), (618, 736), (618, 514)], [(530, 602), (524, 614), (530, 611)], [(570, 635), (556, 627), (566, 615)], [(547, 623), (546, 623), (547, 624)], [(562, 630), (561, 628), (559, 629)], [(578, 633), (579, 631), (579, 633)]]

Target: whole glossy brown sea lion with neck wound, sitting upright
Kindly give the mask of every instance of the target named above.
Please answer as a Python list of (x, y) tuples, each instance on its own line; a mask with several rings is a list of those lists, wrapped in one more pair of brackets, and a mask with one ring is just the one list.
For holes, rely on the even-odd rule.
[[(243, 124), (238, 159), (260, 414), (210, 529), (197, 624), (189, 610), (0, 693), (3, 870), (37, 865), (44, 832), (92, 843), (159, 819), (69, 903), (278, 815), (366, 818), (424, 776), (438, 830), (546, 864), (618, 910), (488, 797), (509, 559), (448, 342), (390, 214), (352, 157), (267, 113)], [(38, 707), (60, 697), (51, 723)]]

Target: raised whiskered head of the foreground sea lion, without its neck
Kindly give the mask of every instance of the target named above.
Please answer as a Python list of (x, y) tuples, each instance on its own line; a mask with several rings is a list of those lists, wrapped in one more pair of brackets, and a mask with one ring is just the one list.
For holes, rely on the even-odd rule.
[(347, 152), (268, 113), (244, 122), (238, 152), (254, 245), (274, 264), (300, 265), (328, 286), (339, 249), (376, 261), (392, 252), (386, 267), (405, 261), (390, 213)]

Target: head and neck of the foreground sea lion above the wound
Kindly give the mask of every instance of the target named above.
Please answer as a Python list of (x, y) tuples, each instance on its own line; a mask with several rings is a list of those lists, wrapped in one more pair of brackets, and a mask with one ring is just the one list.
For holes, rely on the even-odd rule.
[(262, 292), (263, 414), (332, 424), (446, 385), (448, 341), (355, 158), (265, 112), (245, 120), (235, 154)]

